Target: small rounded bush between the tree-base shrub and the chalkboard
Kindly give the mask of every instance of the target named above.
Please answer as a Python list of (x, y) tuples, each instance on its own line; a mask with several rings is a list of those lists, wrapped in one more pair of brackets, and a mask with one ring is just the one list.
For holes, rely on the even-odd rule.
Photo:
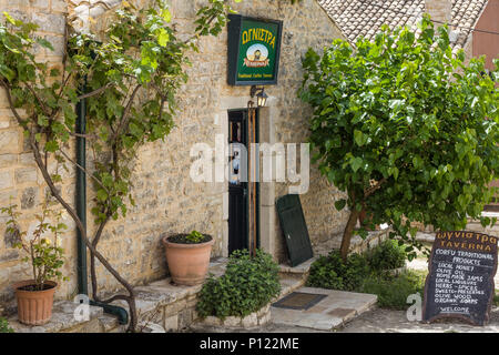
[(385, 271), (406, 265), (407, 253), (404, 245), (387, 240), (366, 253), (366, 258), (373, 270)]

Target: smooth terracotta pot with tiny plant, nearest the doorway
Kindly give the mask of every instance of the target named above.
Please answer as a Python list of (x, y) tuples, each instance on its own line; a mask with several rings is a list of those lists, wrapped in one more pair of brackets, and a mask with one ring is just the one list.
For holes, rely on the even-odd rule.
[(192, 231), (163, 237), (172, 280), (177, 285), (197, 285), (206, 277), (214, 239)]

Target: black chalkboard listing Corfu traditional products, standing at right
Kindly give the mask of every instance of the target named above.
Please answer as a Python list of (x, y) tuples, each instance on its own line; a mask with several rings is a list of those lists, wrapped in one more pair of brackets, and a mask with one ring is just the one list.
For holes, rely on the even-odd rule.
[(488, 323), (495, 294), (497, 237), (476, 232), (438, 232), (429, 258), (422, 318)]

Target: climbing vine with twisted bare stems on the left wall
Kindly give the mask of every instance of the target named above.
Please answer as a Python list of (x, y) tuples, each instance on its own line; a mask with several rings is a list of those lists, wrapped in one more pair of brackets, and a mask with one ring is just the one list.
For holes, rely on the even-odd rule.
[[(141, 10), (123, 1), (99, 41), (95, 33), (79, 33), (69, 23), (67, 52), (62, 63), (53, 67), (33, 54), (37, 45), (53, 50), (37, 34), (38, 26), (3, 13), (7, 23), (0, 24), (0, 88), (24, 130), (51, 194), (74, 220), (90, 251), (93, 298), (104, 303), (126, 301), (131, 311), (129, 331), (136, 326), (133, 287), (98, 251), (98, 243), (106, 223), (125, 216), (128, 204), (134, 204), (131, 163), (138, 149), (164, 139), (174, 126), (175, 94), (187, 80), (187, 51), (197, 50), (195, 40), (200, 37), (217, 36), (228, 11), (226, 1), (210, 0), (197, 11), (195, 32), (181, 40), (164, 0)], [(86, 132), (75, 130), (74, 105), (80, 100), (88, 105)], [(84, 136), (94, 152), (90, 162), (93, 171), (78, 165), (68, 153), (75, 136)], [(50, 168), (53, 163), (57, 169)], [(58, 189), (62, 182), (59, 168), (71, 164), (84, 171), (95, 187), (92, 213), (96, 227), (91, 236)], [(99, 297), (95, 258), (128, 294)]]

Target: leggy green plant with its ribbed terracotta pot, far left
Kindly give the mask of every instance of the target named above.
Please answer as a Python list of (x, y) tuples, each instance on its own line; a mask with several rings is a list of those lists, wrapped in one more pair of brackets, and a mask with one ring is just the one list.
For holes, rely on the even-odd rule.
[[(23, 324), (42, 325), (52, 317), (53, 295), (58, 286), (54, 280), (67, 280), (59, 271), (64, 264), (64, 252), (58, 245), (59, 235), (67, 226), (60, 223), (61, 212), (50, 210), (45, 202), (42, 204), (42, 214), (37, 215), (39, 223), (34, 232), (28, 236), (19, 227), (17, 220), (20, 213), (16, 212), (16, 207), (2, 207), (1, 212), (9, 215), (7, 232), (18, 237), (16, 246), (28, 254), (22, 261), (31, 264), (33, 275), (31, 280), (12, 285), (18, 302), (18, 317)], [(48, 221), (50, 216), (55, 223)]]

